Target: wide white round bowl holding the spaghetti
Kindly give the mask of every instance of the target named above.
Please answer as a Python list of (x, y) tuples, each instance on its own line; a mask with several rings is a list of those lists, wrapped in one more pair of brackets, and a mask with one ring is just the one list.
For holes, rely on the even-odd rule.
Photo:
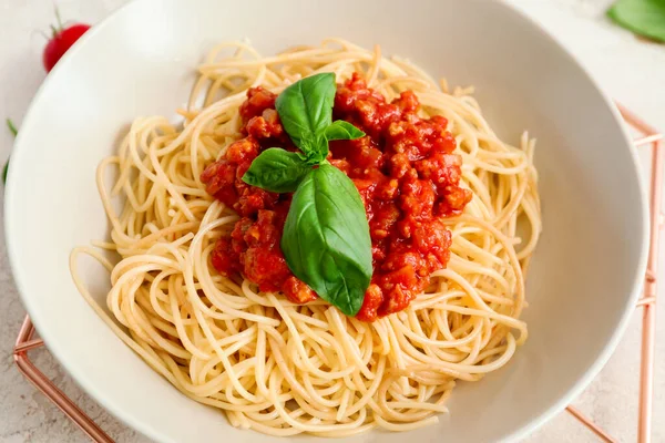
[[(174, 116), (213, 43), (265, 54), (339, 35), (473, 84), (501, 136), (528, 128), (544, 233), (528, 281), (530, 339), (507, 368), (453, 392), (450, 415), (355, 441), (488, 442), (525, 435), (562, 410), (614, 349), (645, 269), (647, 209), (633, 147), (611, 102), (536, 24), (498, 2), (137, 0), (89, 32), (51, 72), (23, 122), (6, 192), (17, 285), (49, 349), (109, 411), (162, 442), (267, 442), (172, 388), (79, 296), (68, 257), (104, 238), (98, 163), (137, 115)], [(90, 265), (100, 300), (108, 277)], [(314, 439), (309, 439), (314, 440)], [(303, 441), (309, 441), (304, 439)]]

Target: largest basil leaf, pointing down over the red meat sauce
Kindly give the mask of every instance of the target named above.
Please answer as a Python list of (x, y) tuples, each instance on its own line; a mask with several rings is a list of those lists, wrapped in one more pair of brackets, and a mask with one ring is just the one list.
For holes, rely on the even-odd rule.
[(294, 194), (282, 251), (296, 277), (355, 316), (372, 272), (365, 206), (354, 182), (330, 164), (311, 169)]

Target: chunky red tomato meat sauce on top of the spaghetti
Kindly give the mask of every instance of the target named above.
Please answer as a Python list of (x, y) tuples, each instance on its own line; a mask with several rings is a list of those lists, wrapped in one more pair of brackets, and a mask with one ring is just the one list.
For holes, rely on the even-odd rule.
[[(206, 190), (242, 217), (212, 253), (223, 275), (242, 274), (262, 291), (282, 291), (296, 303), (317, 295), (289, 270), (279, 241), (291, 194), (250, 186), (243, 175), (268, 147), (295, 151), (275, 111), (277, 96), (262, 87), (247, 92), (239, 113), (244, 138), (203, 172)], [(450, 258), (451, 233), (441, 218), (458, 215), (471, 200), (460, 187), (461, 157), (442, 116), (418, 116), (420, 103), (406, 91), (392, 102), (367, 87), (359, 74), (338, 85), (334, 120), (367, 136), (330, 142), (328, 161), (351, 178), (365, 204), (372, 244), (374, 275), (357, 318), (374, 321), (405, 309), (429, 285), (430, 274)]]

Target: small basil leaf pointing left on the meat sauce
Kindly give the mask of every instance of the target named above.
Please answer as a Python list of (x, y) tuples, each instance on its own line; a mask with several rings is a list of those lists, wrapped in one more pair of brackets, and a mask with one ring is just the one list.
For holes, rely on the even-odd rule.
[(298, 154), (270, 147), (254, 158), (243, 182), (272, 193), (293, 193), (309, 169)]

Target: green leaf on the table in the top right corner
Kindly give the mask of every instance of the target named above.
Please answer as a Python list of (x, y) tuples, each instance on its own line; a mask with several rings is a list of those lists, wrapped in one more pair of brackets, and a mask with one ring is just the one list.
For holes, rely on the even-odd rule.
[(607, 16), (636, 34), (665, 42), (665, 0), (618, 0)]

